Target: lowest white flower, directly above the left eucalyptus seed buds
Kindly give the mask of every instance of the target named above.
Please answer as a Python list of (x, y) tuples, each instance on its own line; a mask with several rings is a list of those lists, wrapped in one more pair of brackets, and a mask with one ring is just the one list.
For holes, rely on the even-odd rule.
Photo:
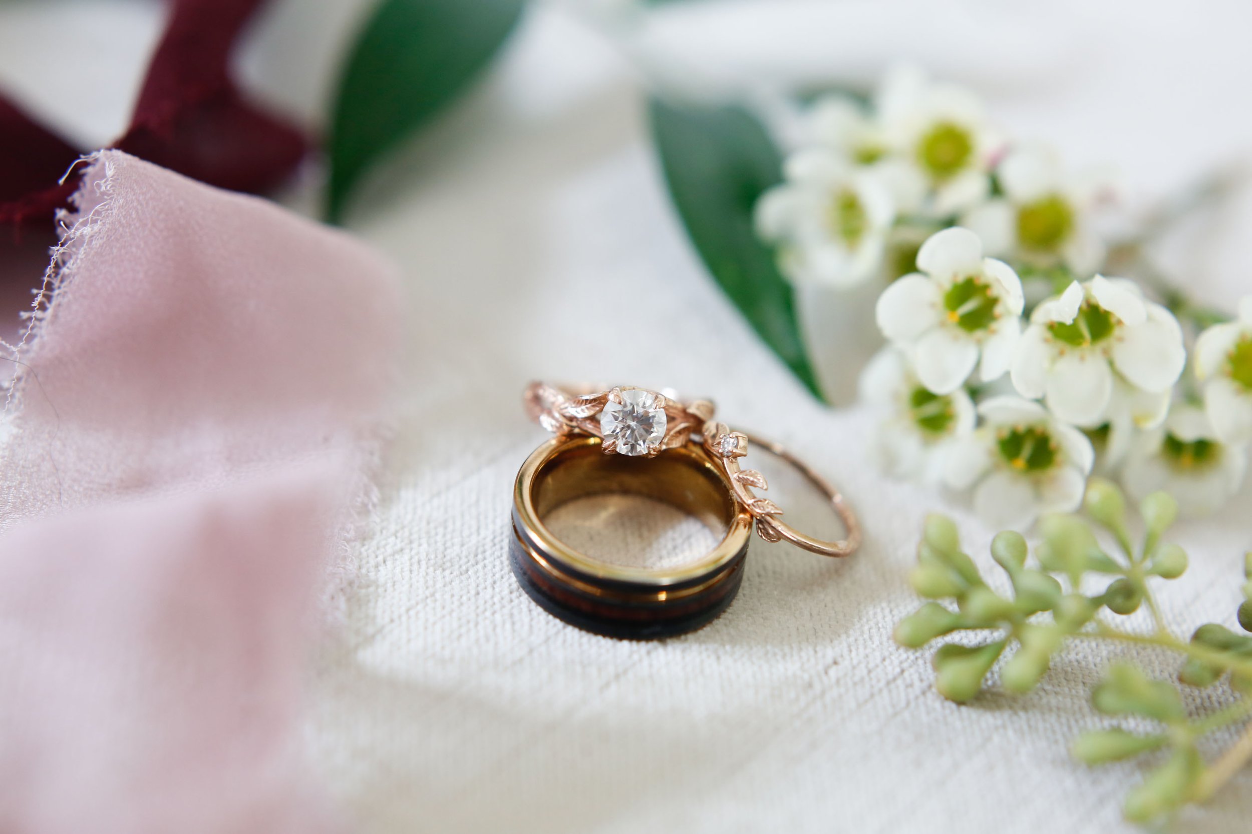
[(953, 444), (944, 474), (954, 489), (974, 489), (987, 524), (1029, 526), (1044, 513), (1078, 508), (1094, 459), (1082, 431), (1017, 396), (994, 396), (978, 413), (983, 425)]

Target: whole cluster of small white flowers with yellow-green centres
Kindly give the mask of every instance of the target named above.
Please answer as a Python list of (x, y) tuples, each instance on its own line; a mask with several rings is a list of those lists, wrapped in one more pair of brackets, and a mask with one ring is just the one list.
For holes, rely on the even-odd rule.
[(1189, 380), (1174, 315), (1097, 274), (1096, 180), (1008, 146), (974, 96), (910, 71), (864, 106), (819, 101), (810, 125), (757, 226), (796, 284), (881, 283), (890, 344), (861, 396), (885, 414), (875, 448), (889, 473), (969, 490), (1003, 528), (1075, 509), (1097, 466), (1193, 515), (1238, 490), (1252, 299), (1196, 340), (1199, 408), (1176, 390)]

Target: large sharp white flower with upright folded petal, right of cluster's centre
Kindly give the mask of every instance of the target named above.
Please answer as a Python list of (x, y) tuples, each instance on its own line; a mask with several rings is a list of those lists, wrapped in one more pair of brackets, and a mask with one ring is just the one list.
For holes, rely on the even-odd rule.
[(1093, 428), (1118, 410), (1151, 428), (1164, 419), (1186, 363), (1172, 313), (1146, 301), (1133, 281), (1097, 275), (1034, 309), (1012, 378), (1018, 394), (1043, 398), (1067, 423)]

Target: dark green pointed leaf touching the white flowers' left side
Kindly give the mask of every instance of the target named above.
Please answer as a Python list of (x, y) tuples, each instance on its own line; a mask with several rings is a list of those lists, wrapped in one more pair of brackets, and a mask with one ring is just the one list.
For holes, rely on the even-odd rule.
[(821, 399), (791, 286), (752, 228), (756, 200), (782, 179), (777, 148), (739, 106), (654, 98), (650, 115), (670, 196), (696, 251), (757, 335)]

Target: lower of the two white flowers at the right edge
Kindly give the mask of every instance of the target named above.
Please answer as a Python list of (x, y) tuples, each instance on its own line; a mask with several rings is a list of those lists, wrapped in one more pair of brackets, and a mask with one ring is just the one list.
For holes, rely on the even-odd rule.
[(1208, 515), (1238, 491), (1246, 464), (1244, 446), (1222, 443), (1199, 408), (1176, 405), (1164, 425), (1134, 443), (1122, 484), (1137, 500), (1164, 490), (1183, 514)]

